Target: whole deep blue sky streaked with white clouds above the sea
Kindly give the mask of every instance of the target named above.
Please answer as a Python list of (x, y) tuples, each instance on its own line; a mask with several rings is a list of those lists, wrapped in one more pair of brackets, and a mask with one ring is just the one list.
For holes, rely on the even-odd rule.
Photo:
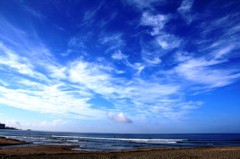
[(0, 1), (0, 121), (240, 132), (240, 2)]

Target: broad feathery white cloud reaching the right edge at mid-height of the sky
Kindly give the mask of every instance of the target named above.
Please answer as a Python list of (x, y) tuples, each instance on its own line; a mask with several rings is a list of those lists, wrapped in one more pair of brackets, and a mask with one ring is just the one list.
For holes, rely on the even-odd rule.
[(238, 70), (218, 69), (214, 66), (222, 61), (207, 60), (205, 58), (190, 58), (180, 63), (176, 73), (187, 80), (204, 84), (207, 88), (222, 87), (234, 82), (240, 77)]

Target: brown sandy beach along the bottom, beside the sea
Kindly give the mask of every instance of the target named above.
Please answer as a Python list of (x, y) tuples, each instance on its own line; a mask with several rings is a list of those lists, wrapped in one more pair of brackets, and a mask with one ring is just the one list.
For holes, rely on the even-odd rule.
[[(0, 138), (0, 145), (26, 144)], [(61, 159), (239, 159), (240, 147), (209, 147), (185, 149), (134, 149), (123, 151), (74, 151), (75, 146), (0, 147), (0, 158), (61, 158)]]

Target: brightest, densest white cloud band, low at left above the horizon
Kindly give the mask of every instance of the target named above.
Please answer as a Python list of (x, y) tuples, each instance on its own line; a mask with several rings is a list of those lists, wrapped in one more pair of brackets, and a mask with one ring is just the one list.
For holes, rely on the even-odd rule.
[[(45, 86), (42, 90), (8, 89), (0, 87), (0, 103), (31, 111), (50, 114), (68, 114), (74, 112), (85, 116), (92, 116), (96, 112), (89, 108), (88, 97), (81, 97), (78, 92), (61, 91), (59, 86)], [(92, 117), (101, 116), (98, 111)]]

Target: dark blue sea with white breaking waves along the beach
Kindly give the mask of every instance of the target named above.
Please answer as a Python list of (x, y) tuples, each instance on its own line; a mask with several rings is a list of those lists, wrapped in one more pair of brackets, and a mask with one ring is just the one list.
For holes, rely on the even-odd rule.
[(0, 136), (32, 145), (78, 145), (75, 150), (240, 146), (240, 134), (104, 134), (0, 130)]

